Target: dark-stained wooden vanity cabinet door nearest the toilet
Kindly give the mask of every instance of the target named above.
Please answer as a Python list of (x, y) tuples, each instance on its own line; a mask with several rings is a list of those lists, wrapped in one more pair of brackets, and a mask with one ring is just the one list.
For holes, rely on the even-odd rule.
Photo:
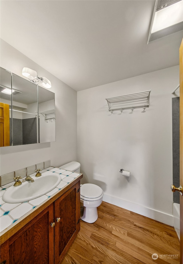
[(55, 201), (55, 264), (60, 263), (80, 230), (79, 188), (80, 181)]

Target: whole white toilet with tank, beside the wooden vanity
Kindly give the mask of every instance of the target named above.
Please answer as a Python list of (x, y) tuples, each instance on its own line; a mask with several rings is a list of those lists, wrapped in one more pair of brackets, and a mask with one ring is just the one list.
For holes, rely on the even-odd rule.
[[(81, 164), (76, 161), (69, 162), (61, 167), (63, 170), (80, 172)], [(80, 187), (80, 203), (84, 207), (81, 219), (87, 223), (94, 223), (98, 219), (97, 207), (101, 205), (104, 192), (96, 184), (86, 183)]]

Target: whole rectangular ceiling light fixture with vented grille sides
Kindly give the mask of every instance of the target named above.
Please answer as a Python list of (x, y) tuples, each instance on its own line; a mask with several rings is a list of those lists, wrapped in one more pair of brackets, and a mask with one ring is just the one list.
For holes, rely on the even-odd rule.
[(148, 43), (181, 30), (183, 30), (183, 0), (156, 0)]

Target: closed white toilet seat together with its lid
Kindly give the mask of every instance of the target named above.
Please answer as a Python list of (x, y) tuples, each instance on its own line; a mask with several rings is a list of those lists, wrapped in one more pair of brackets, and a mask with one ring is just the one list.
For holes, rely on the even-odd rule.
[(80, 188), (80, 198), (85, 201), (97, 201), (104, 195), (103, 190), (96, 184), (83, 184)]

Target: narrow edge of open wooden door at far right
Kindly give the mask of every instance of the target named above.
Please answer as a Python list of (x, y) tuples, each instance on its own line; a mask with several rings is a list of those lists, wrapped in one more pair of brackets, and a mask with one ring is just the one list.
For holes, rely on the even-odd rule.
[[(183, 186), (183, 39), (180, 57), (180, 185)], [(183, 263), (183, 196), (180, 195), (180, 263)]]

